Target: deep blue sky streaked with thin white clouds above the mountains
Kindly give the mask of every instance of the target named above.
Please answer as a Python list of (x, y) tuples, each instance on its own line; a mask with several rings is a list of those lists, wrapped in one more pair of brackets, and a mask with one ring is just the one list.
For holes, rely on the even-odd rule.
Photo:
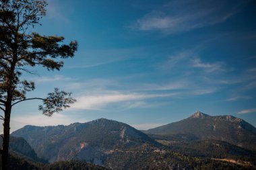
[(255, 1), (48, 1), (35, 32), (77, 40), (61, 71), (33, 68), (36, 90), (72, 91), (71, 108), (13, 108), (11, 130), (108, 118), (148, 129), (200, 110), (256, 126)]

